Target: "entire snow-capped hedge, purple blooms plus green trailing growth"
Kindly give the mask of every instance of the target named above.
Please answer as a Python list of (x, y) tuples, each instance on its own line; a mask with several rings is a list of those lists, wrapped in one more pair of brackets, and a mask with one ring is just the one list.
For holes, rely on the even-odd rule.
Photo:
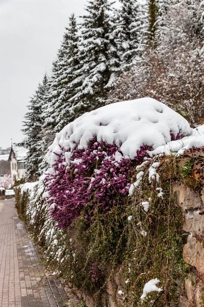
[(180, 168), (173, 155), (154, 153), (200, 145), (200, 134), (150, 98), (101, 107), (68, 124), (49, 147), (39, 183), (17, 192), (17, 207), (54, 274), (100, 304), (119, 267), (116, 301), (176, 305), (175, 280), (188, 269), (182, 212), (171, 193)]

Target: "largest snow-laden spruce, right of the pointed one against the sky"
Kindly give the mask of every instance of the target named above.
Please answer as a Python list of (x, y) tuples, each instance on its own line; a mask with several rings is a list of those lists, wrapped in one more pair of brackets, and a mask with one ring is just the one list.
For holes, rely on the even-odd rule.
[[(111, 27), (112, 3), (89, 0), (81, 25), (81, 68), (73, 84), (77, 93), (71, 98), (74, 118), (103, 106), (120, 71), (120, 60)], [(72, 84), (71, 84), (72, 86)]]

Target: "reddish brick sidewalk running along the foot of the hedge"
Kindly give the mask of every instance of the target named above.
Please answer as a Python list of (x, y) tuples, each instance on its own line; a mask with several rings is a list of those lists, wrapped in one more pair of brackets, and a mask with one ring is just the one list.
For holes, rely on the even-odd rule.
[(79, 306), (67, 297), (60, 281), (45, 277), (28, 232), (19, 220), (14, 201), (0, 202), (0, 306)]

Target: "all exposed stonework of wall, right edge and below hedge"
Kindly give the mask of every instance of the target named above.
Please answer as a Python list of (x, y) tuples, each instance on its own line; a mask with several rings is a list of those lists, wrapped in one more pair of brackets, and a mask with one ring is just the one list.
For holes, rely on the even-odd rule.
[[(193, 267), (190, 278), (181, 281), (181, 307), (204, 306), (204, 188), (201, 194), (196, 193), (184, 184), (173, 185), (175, 201), (184, 211), (184, 250), (183, 257), (187, 264)], [(69, 284), (72, 287), (71, 284)], [(122, 290), (119, 278), (119, 269), (115, 270), (112, 280), (108, 280), (106, 291), (103, 294), (104, 307), (117, 307), (122, 305), (121, 298), (117, 295)], [(85, 298), (88, 307), (95, 307), (94, 301), (85, 293), (74, 289), (78, 296)]]

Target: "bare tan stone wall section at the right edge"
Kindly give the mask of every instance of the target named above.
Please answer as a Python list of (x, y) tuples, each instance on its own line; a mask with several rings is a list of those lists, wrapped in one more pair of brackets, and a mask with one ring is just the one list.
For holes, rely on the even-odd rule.
[[(181, 294), (182, 307), (204, 306), (204, 188), (196, 193), (189, 187), (173, 185), (176, 205), (184, 211), (183, 230), (186, 236), (183, 257), (193, 267), (191, 278), (185, 280), (185, 295)], [(187, 297), (187, 298), (186, 298)]]

